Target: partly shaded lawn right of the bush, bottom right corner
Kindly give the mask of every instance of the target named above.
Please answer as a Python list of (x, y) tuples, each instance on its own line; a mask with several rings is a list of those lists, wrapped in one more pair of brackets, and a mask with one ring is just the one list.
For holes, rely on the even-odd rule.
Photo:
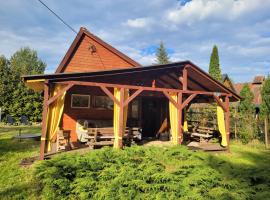
[(237, 157), (227, 158), (210, 155), (206, 162), (221, 175), (222, 187), (231, 191), (230, 199), (269, 199), (269, 163), (269, 151), (242, 151)]

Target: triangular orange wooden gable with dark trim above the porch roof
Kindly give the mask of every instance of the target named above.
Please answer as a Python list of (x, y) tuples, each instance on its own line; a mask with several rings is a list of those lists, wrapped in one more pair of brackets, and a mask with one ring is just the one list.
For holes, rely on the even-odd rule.
[(135, 66), (141, 65), (87, 29), (81, 28), (55, 73), (91, 72)]

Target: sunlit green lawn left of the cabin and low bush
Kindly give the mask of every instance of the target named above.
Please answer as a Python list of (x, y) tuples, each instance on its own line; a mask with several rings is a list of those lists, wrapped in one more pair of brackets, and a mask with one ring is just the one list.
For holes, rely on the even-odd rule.
[(38, 155), (39, 142), (12, 139), (22, 134), (40, 133), (39, 126), (0, 127), (0, 199), (36, 199), (33, 167), (20, 167), (23, 158)]

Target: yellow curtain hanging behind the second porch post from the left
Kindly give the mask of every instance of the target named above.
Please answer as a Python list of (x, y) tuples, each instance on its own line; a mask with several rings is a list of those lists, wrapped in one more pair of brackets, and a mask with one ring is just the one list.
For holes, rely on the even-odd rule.
[[(114, 97), (120, 101), (120, 88), (114, 88)], [(124, 90), (124, 100), (126, 100), (129, 97), (129, 90)], [(113, 106), (113, 131), (114, 131), (114, 147), (117, 148), (120, 146), (119, 144), (119, 137), (123, 137), (123, 135), (119, 135), (119, 120), (120, 120), (120, 107), (114, 103)], [(125, 133), (126, 130), (126, 124), (127, 124), (127, 113), (128, 113), (128, 106), (124, 107), (124, 124), (123, 124), (123, 133)]]

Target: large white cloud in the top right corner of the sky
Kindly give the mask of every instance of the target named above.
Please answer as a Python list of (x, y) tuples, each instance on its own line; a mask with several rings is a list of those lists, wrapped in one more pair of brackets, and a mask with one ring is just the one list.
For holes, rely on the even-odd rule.
[(235, 20), (255, 11), (266, 10), (270, 0), (193, 0), (168, 10), (167, 19), (176, 24), (192, 24), (206, 19)]

